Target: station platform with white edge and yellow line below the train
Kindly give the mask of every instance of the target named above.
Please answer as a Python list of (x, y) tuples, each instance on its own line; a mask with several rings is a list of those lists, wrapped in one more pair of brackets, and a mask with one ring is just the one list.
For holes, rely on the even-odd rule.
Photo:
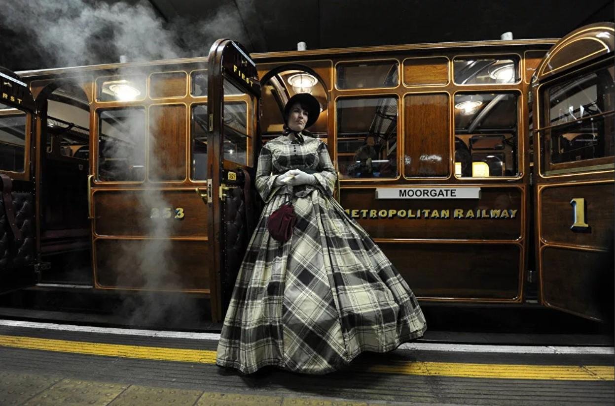
[(406, 343), (328, 375), (215, 365), (219, 335), (0, 320), (0, 405), (611, 405), (613, 347)]

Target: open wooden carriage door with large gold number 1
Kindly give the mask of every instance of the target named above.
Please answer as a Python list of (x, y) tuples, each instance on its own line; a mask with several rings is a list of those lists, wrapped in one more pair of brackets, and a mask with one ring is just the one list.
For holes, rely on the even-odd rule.
[(579, 28), (533, 77), (542, 304), (613, 319), (614, 25)]

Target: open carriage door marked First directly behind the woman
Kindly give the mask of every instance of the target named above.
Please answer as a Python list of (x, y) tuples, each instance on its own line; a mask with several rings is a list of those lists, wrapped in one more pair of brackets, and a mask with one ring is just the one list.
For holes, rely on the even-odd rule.
[(260, 148), (256, 127), (260, 83), (245, 48), (217, 40), (209, 52), (208, 166), (210, 236), (213, 236), (212, 318), (221, 320), (252, 236), (252, 178)]

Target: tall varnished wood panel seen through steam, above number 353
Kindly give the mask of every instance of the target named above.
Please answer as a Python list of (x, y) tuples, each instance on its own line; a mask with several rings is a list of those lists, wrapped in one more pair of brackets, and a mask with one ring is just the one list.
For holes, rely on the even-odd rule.
[(150, 180), (186, 178), (186, 106), (183, 104), (149, 107)]

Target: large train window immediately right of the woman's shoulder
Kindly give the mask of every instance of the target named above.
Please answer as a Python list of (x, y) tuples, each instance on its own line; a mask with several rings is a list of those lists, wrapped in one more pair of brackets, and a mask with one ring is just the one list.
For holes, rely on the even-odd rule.
[(395, 178), (397, 103), (394, 96), (336, 102), (337, 161), (341, 178)]

